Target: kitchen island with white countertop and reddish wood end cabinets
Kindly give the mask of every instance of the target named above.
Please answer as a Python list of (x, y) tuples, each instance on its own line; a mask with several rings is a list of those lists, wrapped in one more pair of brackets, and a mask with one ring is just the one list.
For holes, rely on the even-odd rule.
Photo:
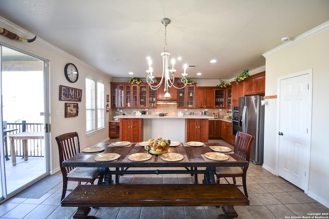
[[(209, 115), (118, 115), (114, 118), (120, 120), (120, 141), (141, 142), (162, 137), (174, 142), (208, 142), (208, 120), (213, 117)], [(205, 139), (207, 141), (202, 141)]]

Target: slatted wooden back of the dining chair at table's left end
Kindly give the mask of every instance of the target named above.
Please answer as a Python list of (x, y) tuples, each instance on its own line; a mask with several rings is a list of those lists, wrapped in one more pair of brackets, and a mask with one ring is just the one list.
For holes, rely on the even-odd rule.
[(67, 175), (74, 167), (65, 168), (62, 163), (80, 152), (79, 136), (77, 132), (65, 133), (57, 136), (56, 141), (59, 149), (61, 171), (64, 175)]

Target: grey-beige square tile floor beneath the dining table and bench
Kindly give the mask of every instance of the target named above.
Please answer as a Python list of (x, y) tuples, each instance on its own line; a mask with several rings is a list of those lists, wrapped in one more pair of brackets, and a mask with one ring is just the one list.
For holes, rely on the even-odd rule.
[[(220, 140), (223, 145), (226, 144)], [(230, 145), (227, 145), (230, 146)], [(230, 146), (231, 147), (231, 146)], [(56, 174), (61, 174), (60, 172)], [(198, 177), (202, 181), (202, 177)], [(239, 181), (239, 180), (238, 180)], [(193, 183), (190, 175), (124, 175), (120, 183), (159, 184), (159, 183)], [(241, 182), (238, 182), (241, 183)], [(69, 187), (77, 183), (69, 182)], [(240, 187), (242, 189), (242, 187)], [(302, 218), (308, 213), (327, 213), (329, 209), (319, 204), (302, 190), (275, 176), (261, 166), (250, 163), (247, 171), (247, 189), (249, 206), (234, 207), (239, 214), (237, 218)], [(48, 191), (41, 198), (12, 197), (0, 205), (0, 218), (73, 218), (76, 207), (61, 207), (62, 183)], [(68, 194), (69, 192), (67, 192)], [(94, 218), (218, 218), (221, 208), (214, 207), (101, 207), (92, 209), (89, 215)]]

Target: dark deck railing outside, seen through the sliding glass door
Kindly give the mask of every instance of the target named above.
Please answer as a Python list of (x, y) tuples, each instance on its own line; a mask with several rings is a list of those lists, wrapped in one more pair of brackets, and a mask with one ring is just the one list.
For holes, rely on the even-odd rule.
[[(5, 124), (4, 124), (5, 125)], [(10, 133), (7, 133), (7, 152), (8, 156), (10, 154), (10, 142), (8, 136), (11, 134), (16, 134), (20, 132), (43, 132), (44, 131), (44, 124), (43, 123), (26, 123), (26, 121), (22, 121), (22, 123), (6, 123), (7, 129), (17, 129)], [(23, 156), (23, 140), (14, 140), (16, 156)], [(6, 150), (6, 147), (5, 147)], [(35, 140), (28, 140), (28, 156), (38, 156), (42, 157), (45, 156), (45, 149), (44, 149), (44, 140), (43, 139), (35, 139)]]

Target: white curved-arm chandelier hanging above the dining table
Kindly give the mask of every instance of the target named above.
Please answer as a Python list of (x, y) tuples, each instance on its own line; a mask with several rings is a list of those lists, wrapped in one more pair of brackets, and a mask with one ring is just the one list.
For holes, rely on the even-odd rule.
[[(174, 73), (176, 72), (175, 67), (175, 59), (171, 59), (171, 64), (172, 64), (172, 69), (169, 69), (169, 55), (170, 52), (167, 48), (167, 25), (170, 24), (170, 19), (169, 18), (162, 18), (161, 19), (161, 23), (163, 25), (165, 25), (165, 48), (163, 48), (163, 52), (161, 52), (161, 56), (162, 56), (162, 64), (163, 64), (163, 68), (162, 68), (162, 76), (161, 76), (161, 81), (159, 83), (157, 83), (156, 85), (153, 85), (155, 83), (154, 79), (155, 77), (152, 75), (153, 72), (153, 68), (151, 67), (152, 65), (152, 60), (150, 57), (148, 57), (148, 63), (149, 63), (149, 70), (147, 70), (146, 72), (148, 73), (148, 76), (146, 77), (146, 81), (148, 83), (148, 85), (150, 86), (150, 88), (152, 90), (157, 90), (162, 82), (165, 83), (165, 89), (163, 89), (163, 91), (165, 91), (165, 97), (170, 97), (170, 93), (169, 88), (174, 87), (176, 89), (181, 89), (181, 88), (185, 88), (187, 85), (187, 78), (186, 76), (188, 75), (186, 73), (186, 69), (187, 69), (187, 64), (184, 65), (184, 73), (182, 73), (181, 75), (183, 76), (181, 78), (181, 82), (184, 83), (183, 87), (176, 87), (174, 85), (174, 81), (175, 81), (175, 77), (174, 77)], [(170, 72), (170, 73), (169, 73)]]

